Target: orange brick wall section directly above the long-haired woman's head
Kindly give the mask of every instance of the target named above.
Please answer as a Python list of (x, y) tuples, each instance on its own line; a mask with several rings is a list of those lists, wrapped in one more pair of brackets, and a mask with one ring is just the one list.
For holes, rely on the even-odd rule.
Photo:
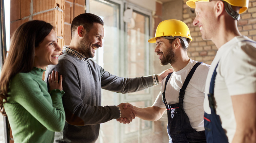
[(43, 20), (55, 27), (58, 44), (64, 45), (64, 0), (11, 0), (10, 34), (30, 20)]

